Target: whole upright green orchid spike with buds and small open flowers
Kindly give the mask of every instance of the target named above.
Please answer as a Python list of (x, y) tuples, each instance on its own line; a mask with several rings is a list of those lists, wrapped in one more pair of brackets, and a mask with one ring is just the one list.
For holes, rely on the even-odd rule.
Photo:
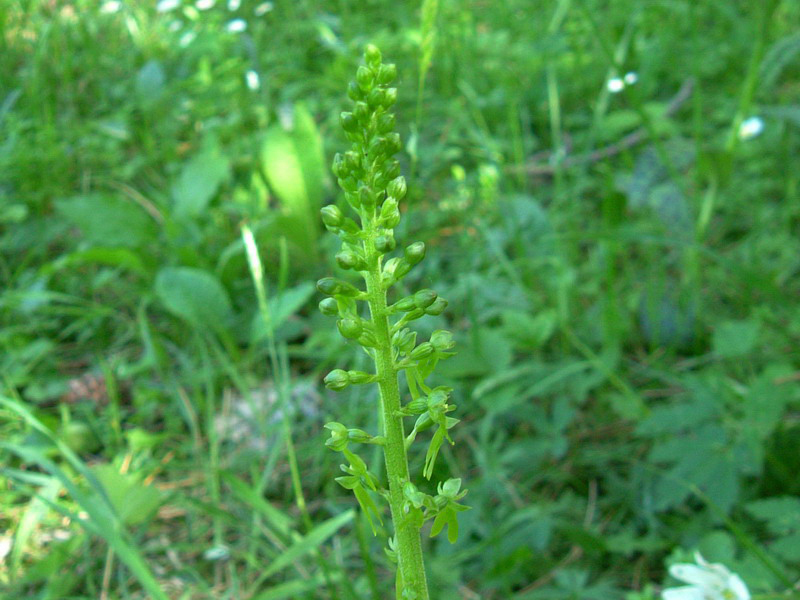
[[(328, 296), (320, 302), (322, 313), (336, 317), (341, 335), (362, 346), (375, 365), (374, 373), (335, 369), (325, 377), (325, 385), (341, 391), (350, 385), (377, 383), (382, 432), (373, 436), (341, 423), (328, 423), (326, 445), (341, 452), (347, 461), (341, 466), (345, 475), (337, 481), (353, 491), (375, 535), (383, 525), (375, 499), (383, 498), (389, 504), (394, 535), (387, 554), (397, 563), (397, 598), (428, 600), (421, 529), (432, 519), (430, 535), (436, 536), (446, 527), (448, 539), (455, 542), (457, 515), (468, 508), (459, 502), (467, 492), (461, 490), (460, 479), (439, 483), (435, 496), (421, 491), (409, 473), (408, 450), (418, 434), (433, 431), (422, 471), (430, 480), (442, 444), (445, 440), (453, 443), (450, 429), (458, 419), (448, 416), (456, 408), (449, 402), (452, 390), (426, 383), (438, 362), (452, 356), (453, 340), (449, 332), (439, 330), (418, 344), (417, 334), (407, 327), (425, 315), (445, 310), (447, 302), (433, 290), (422, 289), (391, 304), (387, 299), (392, 288), (423, 260), (425, 244), (415, 242), (396, 251), (394, 228), (400, 222), (399, 203), (406, 195), (400, 163), (393, 158), (402, 147), (391, 112), (397, 89), (390, 84), (397, 69), (383, 64), (380, 50), (373, 45), (367, 46), (364, 59), (356, 81), (347, 89), (355, 106), (340, 117), (352, 147), (333, 161), (339, 186), (358, 218), (347, 217), (337, 206), (329, 205), (322, 209), (322, 220), (328, 231), (342, 240), (336, 255), (338, 265), (357, 272), (365, 289), (333, 277), (321, 279), (317, 289)], [(368, 305), (368, 318), (359, 303)], [(410, 395), (406, 403), (400, 393), (400, 371), (405, 371)], [(408, 434), (405, 419), (414, 419)], [(385, 483), (351, 450), (353, 444), (383, 449)]]

